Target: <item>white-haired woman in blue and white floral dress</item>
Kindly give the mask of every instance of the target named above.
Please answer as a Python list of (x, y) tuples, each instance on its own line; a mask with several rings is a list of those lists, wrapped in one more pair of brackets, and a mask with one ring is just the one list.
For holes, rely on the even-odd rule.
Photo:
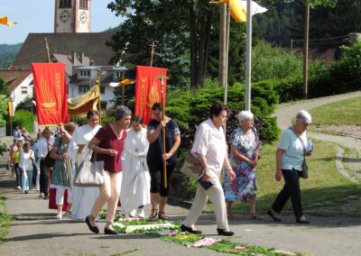
[(236, 215), (232, 213), (232, 203), (236, 200), (247, 199), (251, 218), (262, 220), (262, 216), (255, 211), (255, 197), (257, 196), (255, 167), (259, 157), (260, 141), (254, 127), (254, 114), (250, 111), (241, 111), (237, 117), (239, 126), (230, 137), (231, 154), (229, 157), (236, 178), (230, 181), (226, 177), (223, 182), (227, 216), (230, 219), (236, 218)]

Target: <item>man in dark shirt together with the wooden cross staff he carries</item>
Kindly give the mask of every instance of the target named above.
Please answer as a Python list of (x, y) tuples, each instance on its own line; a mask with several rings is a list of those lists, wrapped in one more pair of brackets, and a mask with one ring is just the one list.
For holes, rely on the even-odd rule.
[[(163, 80), (166, 78), (163, 76), (160, 78), (163, 87)], [(162, 98), (164, 98), (163, 95)], [(153, 104), (153, 119), (147, 127), (149, 142), (147, 164), (151, 174), (152, 204), (152, 213), (149, 220), (154, 220), (157, 216), (162, 220), (168, 219), (164, 211), (168, 198), (168, 184), (177, 161), (177, 150), (180, 146), (180, 128), (174, 120), (165, 115), (164, 110), (165, 104)], [(158, 202), (159, 212), (157, 210)]]

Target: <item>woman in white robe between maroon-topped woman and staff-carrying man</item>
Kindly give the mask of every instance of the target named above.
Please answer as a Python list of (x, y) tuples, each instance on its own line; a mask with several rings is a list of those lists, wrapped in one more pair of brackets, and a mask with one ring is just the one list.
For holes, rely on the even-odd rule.
[(149, 142), (147, 131), (142, 124), (142, 117), (134, 115), (131, 121), (132, 128), (126, 131), (120, 192), (122, 212), (140, 218), (144, 218), (143, 206), (151, 203), (151, 176), (146, 162)]

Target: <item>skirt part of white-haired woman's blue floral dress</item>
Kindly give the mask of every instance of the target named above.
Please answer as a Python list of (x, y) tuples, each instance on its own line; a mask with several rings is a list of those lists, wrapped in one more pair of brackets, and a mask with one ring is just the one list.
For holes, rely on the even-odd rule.
[(233, 202), (244, 198), (255, 198), (257, 196), (257, 182), (255, 169), (234, 169), (236, 178), (230, 181), (227, 173), (223, 179), (223, 191), (227, 202)]

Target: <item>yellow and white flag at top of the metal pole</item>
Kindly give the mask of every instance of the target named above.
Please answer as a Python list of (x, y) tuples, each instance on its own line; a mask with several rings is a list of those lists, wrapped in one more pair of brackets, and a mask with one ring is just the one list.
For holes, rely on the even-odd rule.
[[(212, 0), (210, 4), (228, 4), (229, 12), (236, 23), (245, 23), (247, 21), (247, 1), (245, 0)], [(267, 9), (252, 1), (252, 16), (263, 14)]]

